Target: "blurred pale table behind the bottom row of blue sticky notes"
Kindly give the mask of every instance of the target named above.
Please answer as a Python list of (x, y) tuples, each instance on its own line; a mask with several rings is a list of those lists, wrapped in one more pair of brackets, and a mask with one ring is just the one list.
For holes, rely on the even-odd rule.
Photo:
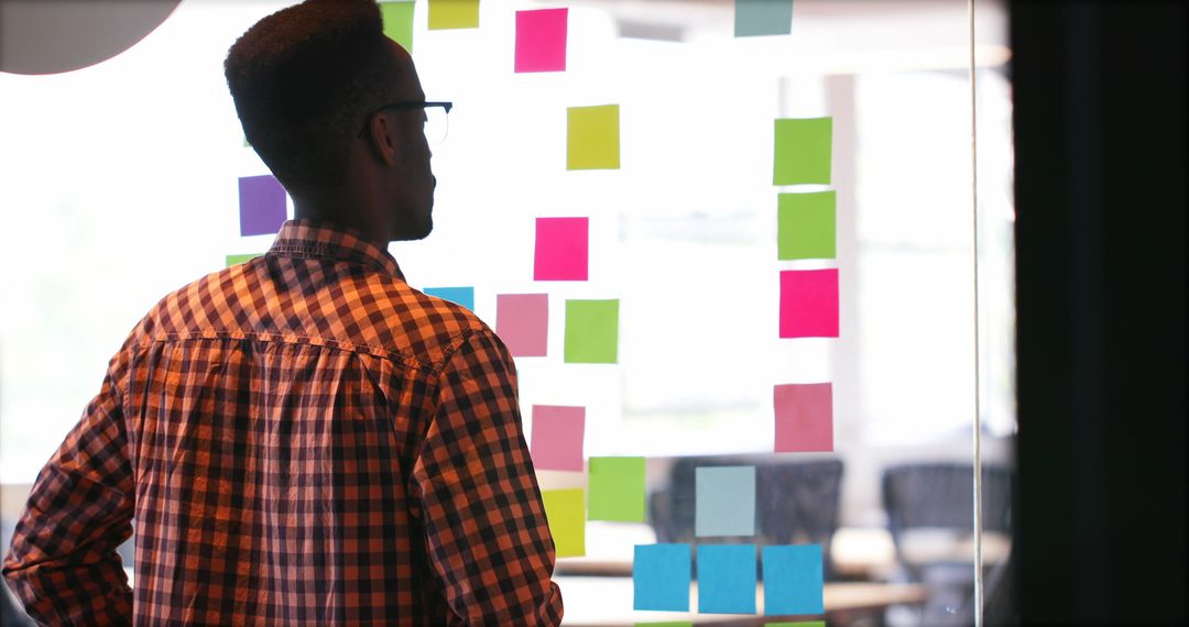
[[(763, 584), (756, 587), (756, 614), (697, 614), (698, 584), (690, 587), (690, 608), (694, 612), (635, 612), (631, 609), (630, 577), (554, 577), (561, 588), (566, 615), (564, 625), (630, 626), (652, 621), (693, 621), (694, 625), (754, 625), (784, 620), (820, 620), (820, 616), (765, 616)], [(868, 582), (826, 583), (823, 589), (826, 619), (839, 621), (898, 604), (917, 604), (929, 593), (919, 584)]]

